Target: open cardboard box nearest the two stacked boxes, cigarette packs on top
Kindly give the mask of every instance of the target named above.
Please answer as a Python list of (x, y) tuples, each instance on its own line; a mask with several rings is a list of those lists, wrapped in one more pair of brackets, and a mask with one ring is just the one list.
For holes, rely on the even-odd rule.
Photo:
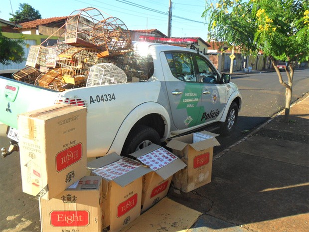
[(87, 165), (102, 177), (103, 230), (120, 231), (141, 215), (143, 176), (151, 169), (116, 153)]

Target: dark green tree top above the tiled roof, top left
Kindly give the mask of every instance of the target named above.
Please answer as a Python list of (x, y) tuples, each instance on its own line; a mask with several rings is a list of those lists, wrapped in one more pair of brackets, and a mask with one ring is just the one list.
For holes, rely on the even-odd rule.
[(15, 23), (27, 22), (42, 18), (39, 11), (27, 3), (19, 3), (19, 10), (16, 10), (14, 14), (10, 13), (10, 15), (13, 17), (9, 18), (8, 20)]

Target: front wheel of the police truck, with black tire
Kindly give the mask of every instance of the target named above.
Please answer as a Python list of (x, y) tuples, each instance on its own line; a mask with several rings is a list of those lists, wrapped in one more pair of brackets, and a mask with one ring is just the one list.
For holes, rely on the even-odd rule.
[(229, 136), (235, 130), (235, 126), (238, 119), (238, 105), (233, 102), (227, 112), (225, 122), (220, 123), (220, 134), (223, 136)]

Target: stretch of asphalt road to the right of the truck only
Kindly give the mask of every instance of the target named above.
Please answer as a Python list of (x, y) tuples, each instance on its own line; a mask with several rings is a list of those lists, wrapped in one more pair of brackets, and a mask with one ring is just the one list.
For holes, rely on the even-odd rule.
[[(283, 79), (287, 81), (287, 73), (281, 73)], [(214, 155), (239, 141), (285, 108), (285, 87), (279, 83), (276, 72), (234, 74), (231, 81), (238, 86), (242, 95), (242, 109), (238, 114), (235, 132), (229, 137), (217, 137), (221, 146), (214, 148)], [(296, 70), (292, 102), (307, 92), (309, 92), (309, 69)]]

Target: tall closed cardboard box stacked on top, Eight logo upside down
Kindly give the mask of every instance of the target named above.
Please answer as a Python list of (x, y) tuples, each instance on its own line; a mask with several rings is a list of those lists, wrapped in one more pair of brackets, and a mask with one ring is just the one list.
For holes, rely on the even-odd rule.
[(86, 108), (68, 104), (18, 115), (22, 191), (49, 200), (86, 174)]

